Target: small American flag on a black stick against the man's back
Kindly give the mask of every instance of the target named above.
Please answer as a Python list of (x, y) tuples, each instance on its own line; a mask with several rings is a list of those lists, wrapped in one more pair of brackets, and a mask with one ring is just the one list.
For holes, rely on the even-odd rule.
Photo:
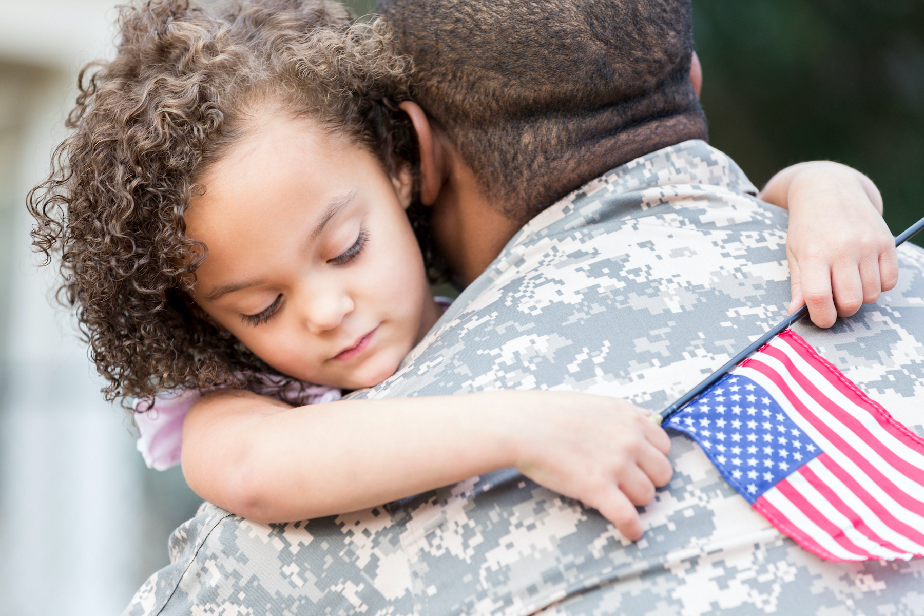
[(924, 555), (924, 440), (791, 330), (663, 425), (823, 559)]

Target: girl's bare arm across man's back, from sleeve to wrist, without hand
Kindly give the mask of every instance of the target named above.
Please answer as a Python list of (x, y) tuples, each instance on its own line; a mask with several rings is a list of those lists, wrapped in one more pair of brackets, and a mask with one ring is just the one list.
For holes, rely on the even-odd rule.
[(213, 394), (184, 424), (183, 471), (202, 498), (258, 522), (355, 511), (515, 465), (510, 419), (523, 400), (493, 392), (285, 409)]

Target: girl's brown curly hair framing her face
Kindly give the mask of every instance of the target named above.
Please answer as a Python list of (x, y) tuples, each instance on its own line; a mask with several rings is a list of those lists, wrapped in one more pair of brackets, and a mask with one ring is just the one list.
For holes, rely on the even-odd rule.
[[(395, 173), (416, 166), (407, 115), (410, 60), (382, 20), (357, 23), (325, 0), (188, 0), (122, 6), (112, 62), (85, 66), (73, 132), (28, 197), (43, 264), (60, 255), (58, 299), (76, 308), (107, 400), (175, 388), (259, 388), (276, 375), (189, 300), (207, 248), (185, 235), (196, 178), (263, 100), (320, 120)], [(433, 262), (426, 214), (411, 221)]]

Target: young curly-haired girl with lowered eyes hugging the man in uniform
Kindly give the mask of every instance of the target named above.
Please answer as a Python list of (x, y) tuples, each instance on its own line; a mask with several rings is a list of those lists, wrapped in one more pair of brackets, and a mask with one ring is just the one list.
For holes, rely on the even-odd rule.
[[(139, 417), (149, 462), (174, 461), (169, 428), (182, 424), (190, 487), (266, 522), (516, 466), (641, 535), (635, 505), (670, 479), (670, 441), (625, 401), (504, 391), (334, 402), (391, 376), (441, 314), (415, 200), (411, 118), (423, 113), (383, 22), (351, 24), (322, 0), (211, 13), (164, 0), (125, 9), (121, 34), (116, 59), (81, 75), (75, 132), (30, 207), (36, 245), (61, 250), (104, 393), (140, 399), (140, 411), (162, 394)], [(847, 241), (872, 243), (852, 265), (837, 261), (856, 284), (836, 291), (886, 288), (887, 265), (881, 283), (869, 259), (887, 264), (891, 236), (867, 189), (797, 205), (808, 171), (781, 173), (765, 194), (792, 198), (794, 221), (818, 202), (854, 217)], [(805, 224), (791, 234), (827, 259), (830, 279), (845, 238), (819, 244)], [(247, 404), (229, 405), (229, 391)]]

